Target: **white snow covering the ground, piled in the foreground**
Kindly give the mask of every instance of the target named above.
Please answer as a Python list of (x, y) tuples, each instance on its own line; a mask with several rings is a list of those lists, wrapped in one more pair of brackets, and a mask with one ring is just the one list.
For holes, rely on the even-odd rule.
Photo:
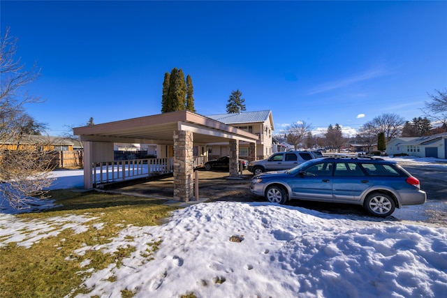
[[(442, 160), (404, 158), (404, 163), (447, 166)], [(56, 188), (82, 186), (80, 177), (58, 171)], [(47, 208), (51, 202), (42, 204)], [(4, 207), (4, 206), (3, 206)], [(409, 207), (411, 208), (411, 207)], [(62, 229), (101, 229), (93, 218), (65, 216), (22, 221), (0, 213), (0, 247), (30, 247)], [(405, 224), (404, 224), (405, 223)], [(242, 241), (230, 241), (240, 239)], [(162, 240), (154, 260), (146, 252)], [(121, 297), (446, 297), (447, 228), (418, 221), (323, 214), (267, 202), (193, 204), (155, 227), (127, 226), (109, 244), (82, 246), (104, 253), (122, 246), (135, 252), (85, 281), (89, 295)], [(69, 262), (69, 260), (67, 260)], [(115, 276), (116, 278), (110, 278)]]

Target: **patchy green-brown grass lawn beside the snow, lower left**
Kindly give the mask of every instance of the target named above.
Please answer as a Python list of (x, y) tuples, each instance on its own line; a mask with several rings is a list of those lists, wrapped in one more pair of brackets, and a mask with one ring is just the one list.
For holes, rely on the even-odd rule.
[[(31, 248), (15, 243), (1, 247), (0, 297), (72, 297), (81, 292), (88, 293), (82, 287), (82, 281), (91, 274), (87, 272), (88, 269), (98, 271), (113, 263), (120, 266), (135, 248), (122, 247), (113, 254), (91, 250), (85, 255), (75, 254), (76, 249), (85, 245), (106, 244), (126, 225), (157, 225), (176, 209), (163, 205), (162, 200), (95, 191), (52, 191), (50, 195), (56, 204), (62, 206), (17, 217), (27, 221), (75, 214), (96, 219), (84, 223), (89, 229), (80, 234), (73, 234), (73, 230), (67, 229), (57, 236), (41, 239)], [(101, 229), (95, 229), (95, 223), (102, 223)], [(148, 260), (160, 244), (161, 240), (150, 244), (152, 251), (147, 251)], [(85, 260), (90, 260), (89, 264), (81, 267), (81, 262)], [(110, 277), (110, 280), (113, 278)], [(133, 297), (134, 294), (122, 290), (122, 297)]]

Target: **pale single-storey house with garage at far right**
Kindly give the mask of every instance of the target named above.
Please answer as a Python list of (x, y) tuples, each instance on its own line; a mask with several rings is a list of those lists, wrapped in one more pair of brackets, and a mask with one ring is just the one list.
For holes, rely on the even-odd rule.
[(386, 154), (447, 158), (447, 133), (427, 137), (395, 137), (386, 143)]

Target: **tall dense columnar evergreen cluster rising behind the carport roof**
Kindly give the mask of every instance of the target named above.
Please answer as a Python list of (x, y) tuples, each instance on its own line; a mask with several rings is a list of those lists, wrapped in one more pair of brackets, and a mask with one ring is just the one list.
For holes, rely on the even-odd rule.
[[(188, 78), (189, 77), (189, 78)], [(181, 110), (194, 110), (193, 84), (191, 76), (187, 76), (185, 82), (181, 68), (173, 68), (170, 73), (165, 73), (163, 91), (161, 94), (161, 112), (174, 112)]]

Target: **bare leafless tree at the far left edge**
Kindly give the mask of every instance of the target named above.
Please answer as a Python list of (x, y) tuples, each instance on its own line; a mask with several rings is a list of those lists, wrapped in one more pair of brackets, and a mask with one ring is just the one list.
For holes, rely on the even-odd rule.
[[(1, 38), (1, 36), (0, 36)], [(45, 125), (24, 110), (26, 103), (40, 102), (24, 89), (40, 75), (36, 64), (26, 70), (17, 54), (17, 38), (0, 40), (0, 200), (15, 208), (27, 207), (31, 198), (42, 198), (52, 184), (52, 150), (41, 136)]]

